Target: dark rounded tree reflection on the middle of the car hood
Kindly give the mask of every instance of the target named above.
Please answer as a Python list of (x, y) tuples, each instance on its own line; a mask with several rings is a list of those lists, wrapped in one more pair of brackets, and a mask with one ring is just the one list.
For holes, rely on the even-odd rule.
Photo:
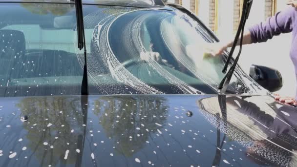
[(156, 123), (164, 124), (168, 116), (168, 106), (162, 97), (127, 97), (121, 101), (109, 98), (108, 101), (103, 98), (95, 101), (95, 105), (101, 106), (95, 114), (100, 115), (106, 136), (119, 142), (117, 151), (127, 157), (142, 149), (150, 133), (160, 128)]

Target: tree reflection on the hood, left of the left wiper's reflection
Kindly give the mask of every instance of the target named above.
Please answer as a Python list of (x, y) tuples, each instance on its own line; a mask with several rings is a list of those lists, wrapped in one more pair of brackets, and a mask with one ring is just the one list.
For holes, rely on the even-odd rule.
[[(63, 161), (65, 163), (65, 151), (75, 152), (78, 135), (83, 134), (82, 113), (75, 112), (80, 111), (80, 99), (65, 97), (24, 98), (17, 106), (22, 115), (29, 117), (30, 124), (24, 124), (23, 128), (28, 130), (26, 135), (28, 147), (40, 161), (41, 166), (48, 167), (49, 164), (55, 166), (58, 163), (63, 163)], [(52, 125), (48, 127), (49, 124)], [(71, 129), (74, 129), (73, 133), (71, 133)], [(56, 137), (58, 138), (56, 139)], [(44, 142), (48, 145), (43, 145)], [(28, 156), (29, 160), (32, 155)], [(75, 162), (75, 154), (69, 154), (67, 164)]]

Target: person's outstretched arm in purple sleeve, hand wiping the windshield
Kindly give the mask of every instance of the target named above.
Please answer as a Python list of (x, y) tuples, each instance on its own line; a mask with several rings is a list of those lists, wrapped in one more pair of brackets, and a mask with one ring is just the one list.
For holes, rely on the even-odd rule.
[[(290, 7), (287, 10), (278, 12), (275, 16), (268, 18), (266, 22), (255, 24), (248, 28), (248, 30), (245, 30), (246, 33), (243, 37), (243, 44), (266, 42), (281, 33), (292, 32), (296, 16), (296, 9)], [(240, 40), (238, 40), (236, 44), (239, 45), (239, 43)], [(232, 45), (233, 39), (229, 42), (213, 43), (210, 50), (214, 56), (217, 56), (221, 55), (224, 50)]]

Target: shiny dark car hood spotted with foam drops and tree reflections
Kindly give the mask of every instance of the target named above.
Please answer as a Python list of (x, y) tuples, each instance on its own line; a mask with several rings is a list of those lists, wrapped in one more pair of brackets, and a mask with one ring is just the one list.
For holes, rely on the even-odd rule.
[(296, 127), (269, 96), (0, 98), (0, 166), (296, 166)]

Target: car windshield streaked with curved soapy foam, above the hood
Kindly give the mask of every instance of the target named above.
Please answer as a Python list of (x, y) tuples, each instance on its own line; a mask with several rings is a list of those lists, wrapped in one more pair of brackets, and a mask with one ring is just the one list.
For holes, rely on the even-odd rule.
[[(90, 94), (216, 94), (225, 57), (201, 22), (164, 9), (84, 5)], [(0, 97), (80, 95), (74, 4), (0, 3)], [(257, 93), (238, 67), (228, 90)]]

